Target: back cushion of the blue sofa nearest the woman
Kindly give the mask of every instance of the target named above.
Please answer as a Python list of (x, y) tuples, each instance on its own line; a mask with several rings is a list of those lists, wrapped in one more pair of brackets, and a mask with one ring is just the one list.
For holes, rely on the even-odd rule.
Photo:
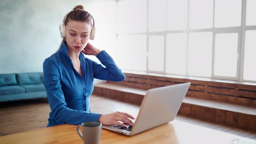
[(18, 85), (39, 84), (42, 83), (43, 72), (17, 73)]

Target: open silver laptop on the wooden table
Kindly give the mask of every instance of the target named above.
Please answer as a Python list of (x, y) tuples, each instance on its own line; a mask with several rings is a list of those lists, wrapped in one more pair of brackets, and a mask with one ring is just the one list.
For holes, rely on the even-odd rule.
[(149, 89), (133, 126), (102, 125), (102, 128), (132, 136), (167, 124), (176, 117), (189, 86), (190, 82)]

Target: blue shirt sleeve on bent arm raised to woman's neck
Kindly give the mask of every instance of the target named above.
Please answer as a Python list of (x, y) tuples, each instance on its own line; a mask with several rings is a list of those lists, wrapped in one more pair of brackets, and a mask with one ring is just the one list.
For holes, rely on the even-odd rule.
[(99, 52), (96, 57), (103, 65), (105, 65), (105, 67), (98, 62), (93, 61), (94, 78), (114, 82), (121, 82), (125, 80), (124, 73), (118, 68), (114, 60), (107, 54), (107, 52), (105, 52), (105, 50)]

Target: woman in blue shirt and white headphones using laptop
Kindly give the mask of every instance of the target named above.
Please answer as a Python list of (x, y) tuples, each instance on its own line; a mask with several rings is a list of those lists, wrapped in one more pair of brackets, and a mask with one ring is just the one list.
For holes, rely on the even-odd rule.
[[(121, 69), (104, 50), (88, 43), (94, 38), (92, 20), (92, 15), (81, 5), (76, 6), (65, 16), (63, 27), (60, 27), (63, 40), (59, 49), (43, 62), (43, 81), (51, 108), (47, 127), (78, 125), (86, 121), (124, 127), (126, 125), (119, 121), (134, 124), (131, 119), (135, 118), (127, 113), (117, 111), (102, 115), (90, 111), (94, 78), (115, 82), (125, 79)], [(87, 59), (81, 52), (96, 56), (105, 67)]]

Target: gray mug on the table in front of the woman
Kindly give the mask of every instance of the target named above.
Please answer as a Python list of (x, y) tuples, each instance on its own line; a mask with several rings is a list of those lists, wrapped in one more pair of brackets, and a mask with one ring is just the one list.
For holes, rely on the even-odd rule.
[[(82, 134), (79, 130), (82, 128)], [(89, 121), (82, 123), (76, 127), (79, 136), (84, 140), (84, 144), (99, 144), (102, 132), (102, 123), (97, 121)]]

